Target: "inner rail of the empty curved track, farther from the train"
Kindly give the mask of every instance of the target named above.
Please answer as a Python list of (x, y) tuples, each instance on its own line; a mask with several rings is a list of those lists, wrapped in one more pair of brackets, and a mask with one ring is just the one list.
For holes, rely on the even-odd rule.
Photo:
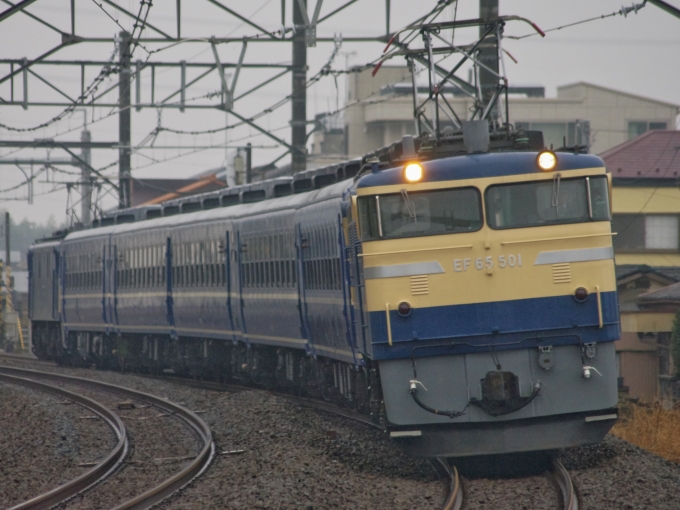
[(92, 487), (93, 485), (108, 478), (111, 474), (113, 474), (114, 471), (118, 469), (120, 464), (125, 459), (125, 456), (128, 452), (128, 437), (125, 430), (125, 425), (117, 414), (99, 402), (95, 402), (92, 399), (78, 395), (77, 393), (72, 393), (63, 388), (23, 377), (16, 377), (0, 373), (0, 381), (26, 386), (34, 390), (51, 393), (60, 398), (73, 401), (99, 415), (99, 417), (102, 418), (109, 427), (111, 427), (118, 438), (115, 448), (95, 467), (78, 476), (77, 478), (64, 483), (63, 485), (45, 492), (44, 494), (31, 498), (28, 501), (24, 501), (13, 506), (10, 510), (40, 510), (58, 505), (59, 503), (72, 498), (76, 494), (79, 494), (89, 487)]

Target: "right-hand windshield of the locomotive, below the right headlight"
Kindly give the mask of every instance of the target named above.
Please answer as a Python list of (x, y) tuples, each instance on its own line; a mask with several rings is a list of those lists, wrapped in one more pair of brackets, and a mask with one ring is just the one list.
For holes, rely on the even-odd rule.
[(585, 177), (490, 186), (485, 193), (491, 228), (609, 221), (607, 178)]

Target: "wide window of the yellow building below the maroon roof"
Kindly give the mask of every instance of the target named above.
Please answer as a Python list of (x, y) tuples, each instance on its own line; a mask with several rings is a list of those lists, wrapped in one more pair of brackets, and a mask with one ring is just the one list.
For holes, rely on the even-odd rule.
[(677, 215), (615, 214), (614, 249), (618, 251), (678, 250)]

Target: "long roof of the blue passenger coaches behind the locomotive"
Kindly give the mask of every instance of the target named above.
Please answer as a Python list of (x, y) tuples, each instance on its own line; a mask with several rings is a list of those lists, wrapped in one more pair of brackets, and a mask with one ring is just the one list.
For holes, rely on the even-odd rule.
[(96, 229), (80, 230), (78, 232), (69, 234), (66, 239), (64, 239), (64, 242), (68, 243), (69, 241), (88, 238), (95, 239), (99, 237), (106, 237), (112, 234), (115, 235), (128, 232), (139, 232), (155, 228), (190, 225), (193, 223), (201, 223), (211, 220), (238, 219), (244, 216), (252, 216), (258, 213), (273, 212), (282, 209), (299, 209), (308, 204), (322, 202), (330, 198), (342, 196), (343, 193), (352, 186), (352, 183), (352, 179), (347, 179), (318, 190), (299, 193), (297, 195), (288, 195), (280, 198), (272, 198), (270, 200), (254, 202), (251, 204), (239, 204), (233, 205), (231, 207), (221, 207), (218, 209), (209, 209), (207, 211), (196, 211), (193, 213), (185, 213), (176, 216), (165, 216), (135, 223), (122, 223), (120, 225), (110, 225)]

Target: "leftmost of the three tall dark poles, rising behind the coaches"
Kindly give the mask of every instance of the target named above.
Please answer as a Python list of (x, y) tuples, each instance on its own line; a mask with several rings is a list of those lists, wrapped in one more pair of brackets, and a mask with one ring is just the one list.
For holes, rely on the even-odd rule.
[(130, 34), (120, 33), (120, 74), (118, 75), (118, 207), (130, 207)]

